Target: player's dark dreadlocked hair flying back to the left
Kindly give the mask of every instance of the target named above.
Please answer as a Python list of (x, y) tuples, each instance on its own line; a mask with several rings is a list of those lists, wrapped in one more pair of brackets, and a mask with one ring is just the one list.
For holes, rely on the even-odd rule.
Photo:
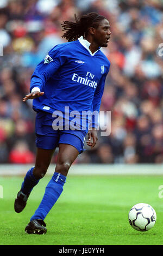
[(74, 17), (76, 22), (64, 21), (64, 24), (61, 24), (62, 31), (66, 31), (62, 35), (62, 38), (66, 38), (68, 42), (76, 41), (81, 35), (86, 37), (89, 27), (97, 28), (99, 22), (106, 19), (97, 13), (83, 15), (80, 17), (80, 20), (77, 19), (76, 14), (74, 14)]

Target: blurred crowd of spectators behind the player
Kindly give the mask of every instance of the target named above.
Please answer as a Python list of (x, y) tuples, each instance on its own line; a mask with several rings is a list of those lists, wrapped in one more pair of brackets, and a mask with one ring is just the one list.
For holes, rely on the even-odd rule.
[(0, 1), (0, 163), (34, 163), (35, 112), (22, 98), (37, 63), (64, 42), (60, 24), (92, 11), (110, 22), (101, 110), (111, 111), (111, 134), (99, 130), (76, 162), (163, 163), (162, 0)]

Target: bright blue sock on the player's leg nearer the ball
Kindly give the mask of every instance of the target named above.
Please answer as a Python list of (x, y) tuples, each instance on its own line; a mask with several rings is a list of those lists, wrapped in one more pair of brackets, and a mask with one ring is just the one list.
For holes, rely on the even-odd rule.
[(30, 221), (33, 221), (33, 219), (45, 219), (48, 212), (52, 209), (53, 205), (60, 197), (65, 182), (65, 175), (54, 172), (53, 177), (46, 186), (42, 201), (34, 215), (30, 218)]

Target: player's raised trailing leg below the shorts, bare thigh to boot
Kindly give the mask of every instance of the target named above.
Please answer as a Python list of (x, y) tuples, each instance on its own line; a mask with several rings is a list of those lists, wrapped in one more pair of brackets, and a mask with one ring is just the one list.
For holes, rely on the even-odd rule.
[(21, 189), (15, 199), (14, 209), (17, 213), (24, 209), (30, 192), (32, 192), (32, 189), (39, 182), (40, 178), (46, 174), (48, 166), (51, 163), (53, 152), (54, 150), (37, 148), (35, 166), (27, 171)]

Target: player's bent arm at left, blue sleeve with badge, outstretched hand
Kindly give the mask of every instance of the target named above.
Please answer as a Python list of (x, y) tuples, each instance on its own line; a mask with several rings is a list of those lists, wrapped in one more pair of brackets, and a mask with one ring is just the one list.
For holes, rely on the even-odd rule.
[(35, 99), (44, 94), (43, 88), (49, 78), (65, 63), (65, 44), (56, 45), (48, 55), (41, 61), (34, 70), (30, 80), (30, 93), (23, 98), (23, 102), (28, 99)]

